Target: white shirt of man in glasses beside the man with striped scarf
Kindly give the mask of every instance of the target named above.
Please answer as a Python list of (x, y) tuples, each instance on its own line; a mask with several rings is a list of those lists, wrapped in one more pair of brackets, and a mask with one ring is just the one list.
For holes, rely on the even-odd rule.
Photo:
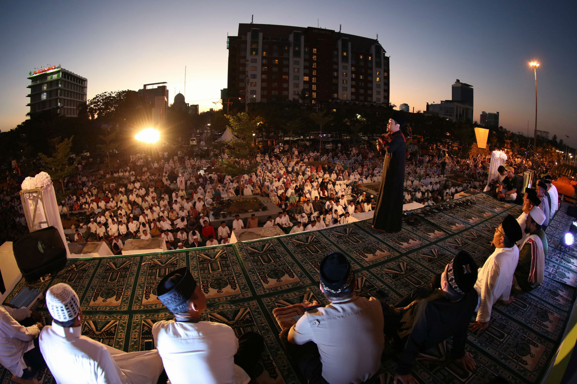
[(496, 248), (478, 269), (475, 289), (479, 295), (477, 321), (488, 322), (497, 300), (509, 300), (513, 274), (519, 261), (519, 248)]

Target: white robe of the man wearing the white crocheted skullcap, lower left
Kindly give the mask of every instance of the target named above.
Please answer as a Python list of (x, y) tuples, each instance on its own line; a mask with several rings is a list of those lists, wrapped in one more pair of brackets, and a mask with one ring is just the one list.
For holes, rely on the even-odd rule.
[(162, 372), (156, 350), (126, 353), (55, 323), (40, 333), (40, 351), (59, 384), (154, 384)]

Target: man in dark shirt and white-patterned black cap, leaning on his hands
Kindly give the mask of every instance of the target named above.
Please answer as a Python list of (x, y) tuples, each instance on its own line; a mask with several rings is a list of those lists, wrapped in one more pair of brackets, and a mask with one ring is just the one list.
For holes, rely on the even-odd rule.
[(402, 348), (395, 383), (417, 383), (411, 367), (418, 354), (451, 336), (456, 362), (464, 369), (475, 368), (473, 356), (465, 352), (467, 327), (477, 307), (475, 281), (477, 264), (469, 253), (460, 251), (429, 287), (417, 288), (395, 306), (383, 307), (384, 332), (396, 348)]

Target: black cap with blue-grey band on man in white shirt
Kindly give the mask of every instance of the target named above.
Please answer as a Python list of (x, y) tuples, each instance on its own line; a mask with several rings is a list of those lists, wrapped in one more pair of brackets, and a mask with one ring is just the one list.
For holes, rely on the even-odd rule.
[(196, 281), (188, 268), (168, 273), (156, 287), (158, 299), (172, 313), (187, 313), (188, 302), (196, 289)]

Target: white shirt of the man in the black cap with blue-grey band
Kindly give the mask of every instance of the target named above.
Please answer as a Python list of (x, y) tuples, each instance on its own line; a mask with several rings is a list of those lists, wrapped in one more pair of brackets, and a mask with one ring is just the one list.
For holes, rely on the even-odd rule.
[(172, 384), (246, 384), (249, 376), (234, 364), (238, 339), (225, 324), (159, 321), (152, 337)]

